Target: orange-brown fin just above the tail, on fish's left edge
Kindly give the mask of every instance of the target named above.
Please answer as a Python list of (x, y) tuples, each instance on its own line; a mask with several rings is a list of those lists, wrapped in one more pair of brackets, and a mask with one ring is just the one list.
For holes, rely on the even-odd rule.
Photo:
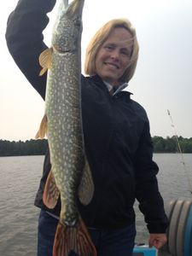
[(53, 209), (56, 206), (59, 195), (60, 190), (57, 188), (53, 172), (50, 170), (44, 186), (44, 205), (49, 209)]

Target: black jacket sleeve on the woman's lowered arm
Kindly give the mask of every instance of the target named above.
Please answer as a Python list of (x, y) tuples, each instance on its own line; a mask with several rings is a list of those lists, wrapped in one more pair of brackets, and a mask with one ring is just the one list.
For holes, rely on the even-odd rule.
[(146, 120), (136, 158), (136, 197), (149, 233), (165, 233), (168, 225), (164, 202), (158, 189), (158, 166), (153, 161), (153, 143)]

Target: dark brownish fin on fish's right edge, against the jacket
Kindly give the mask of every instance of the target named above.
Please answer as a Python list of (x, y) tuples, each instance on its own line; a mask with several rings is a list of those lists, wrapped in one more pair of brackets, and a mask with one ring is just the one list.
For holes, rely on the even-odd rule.
[(79, 184), (79, 191), (78, 191), (79, 201), (84, 206), (88, 205), (92, 200), (94, 189), (95, 187), (93, 183), (92, 174), (90, 171), (90, 165), (87, 158), (85, 157), (84, 171), (81, 178), (81, 182)]

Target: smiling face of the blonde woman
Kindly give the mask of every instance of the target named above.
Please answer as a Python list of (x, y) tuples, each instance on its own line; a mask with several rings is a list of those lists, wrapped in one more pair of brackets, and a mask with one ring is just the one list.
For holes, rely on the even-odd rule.
[(119, 79), (130, 64), (132, 35), (124, 27), (116, 27), (109, 34), (96, 55), (96, 73), (111, 85)]

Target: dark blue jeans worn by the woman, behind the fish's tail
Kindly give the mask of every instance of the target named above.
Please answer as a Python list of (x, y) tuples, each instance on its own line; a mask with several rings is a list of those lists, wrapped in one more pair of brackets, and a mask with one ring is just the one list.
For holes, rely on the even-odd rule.
[[(58, 220), (41, 210), (38, 220), (38, 256), (52, 256)], [(88, 228), (97, 256), (131, 256), (136, 236), (135, 224), (119, 230)], [(78, 256), (70, 253), (69, 256)]]

